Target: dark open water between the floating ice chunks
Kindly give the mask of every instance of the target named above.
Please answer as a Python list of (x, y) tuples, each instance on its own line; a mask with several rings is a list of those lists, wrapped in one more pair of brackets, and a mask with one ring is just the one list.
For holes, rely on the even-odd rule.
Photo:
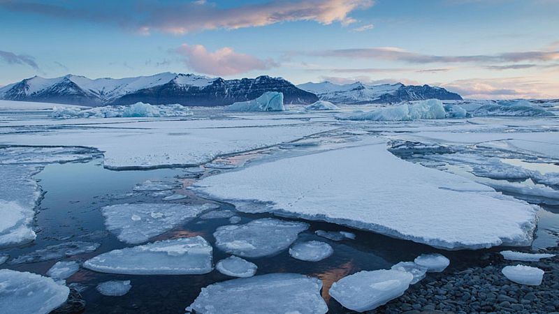
[[(231, 158), (235, 160), (235, 158)], [(238, 158), (245, 161), (245, 158)], [(229, 160), (231, 161), (231, 160)], [(219, 170), (208, 170), (215, 172)], [(62, 260), (84, 261), (95, 255), (124, 248), (126, 244), (107, 232), (103, 225), (103, 216), (99, 209), (108, 204), (122, 204), (125, 202), (163, 202), (161, 196), (155, 197), (150, 193), (132, 193), (135, 184), (147, 179), (169, 180), (184, 174), (182, 169), (161, 170), (106, 170), (101, 160), (91, 160), (84, 163), (65, 163), (46, 165), (43, 172), (36, 175), (44, 191), (44, 198), (36, 214), (35, 230), (37, 239), (34, 243), (22, 248), (2, 250), (11, 257), (35, 251), (45, 246), (64, 243), (65, 241), (93, 241), (101, 246), (93, 253), (75, 255)], [(184, 179), (184, 186), (191, 184), (192, 179)], [(186, 200), (179, 202), (203, 203), (207, 200), (192, 195), (188, 190), (178, 193), (189, 195)], [(222, 204), (222, 209), (234, 210), (230, 204)], [(270, 214), (242, 214), (240, 223), (248, 223), (256, 218), (271, 217)], [(299, 236), (299, 240), (326, 241), (333, 246), (331, 257), (319, 262), (303, 262), (289, 256), (287, 250), (271, 257), (247, 259), (258, 265), (257, 275), (274, 272), (293, 272), (317, 276), (323, 281), (322, 295), (328, 302), (332, 313), (344, 310), (328, 296), (328, 288), (338, 279), (360, 270), (375, 270), (390, 268), (391, 265), (414, 260), (421, 253), (439, 252), (451, 260), (451, 270), (472, 267), (481, 262), (481, 256), (487, 252), (500, 251), (502, 248), (480, 251), (440, 251), (430, 246), (416, 244), (385, 237), (372, 232), (350, 230), (331, 223), (307, 222), (309, 230)], [(192, 220), (180, 225), (174, 230), (154, 238), (173, 239), (177, 237), (194, 237), (201, 235), (210, 244), (215, 244), (212, 233), (220, 225), (228, 224), (228, 219)], [(356, 234), (356, 240), (340, 242), (330, 241), (314, 234), (315, 230), (351, 231)], [(214, 250), (214, 262), (222, 260), (228, 255), (218, 249)], [(10, 265), (3, 264), (0, 268), (31, 271), (45, 274), (57, 260), (37, 262), (32, 264)], [(212, 271), (205, 275), (189, 276), (130, 276), (101, 274), (87, 269), (80, 269), (78, 273), (68, 278), (67, 283), (85, 285), (82, 297), (87, 301), (85, 313), (184, 313), (198, 296), (202, 287), (226, 281), (231, 277)], [(122, 297), (106, 297), (95, 290), (95, 286), (103, 281), (130, 280), (132, 288)]]

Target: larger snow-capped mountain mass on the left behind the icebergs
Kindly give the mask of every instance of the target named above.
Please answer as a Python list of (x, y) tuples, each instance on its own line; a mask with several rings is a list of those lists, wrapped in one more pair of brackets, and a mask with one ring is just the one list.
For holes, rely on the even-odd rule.
[(142, 101), (154, 105), (230, 105), (250, 100), (266, 91), (281, 91), (285, 103), (314, 103), (317, 96), (298, 89), (281, 77), (224, 80), (193, 74), (159, 73), (150, 76), (96, 80), (78, 75), (31, 77), (0, 88), (0, 99), (70, 103), (75, 105), (129, 105)]

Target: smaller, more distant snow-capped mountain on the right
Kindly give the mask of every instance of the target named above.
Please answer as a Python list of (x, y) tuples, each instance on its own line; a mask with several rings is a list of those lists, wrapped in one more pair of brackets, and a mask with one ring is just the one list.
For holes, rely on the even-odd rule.
[(460, 95), (451, 93), (442, 87), (429, 85), (414, 86), (397, 84), (368, 85), (361, 82), (352, 84), (334, 84), (332, 82), (297, 85), (298, 88), (316, 94), (320, 100), (336, 104), (357, 105), (364, 103), (400, 103), (407, 100), (437, 98), (441, 100), (461, 100)]

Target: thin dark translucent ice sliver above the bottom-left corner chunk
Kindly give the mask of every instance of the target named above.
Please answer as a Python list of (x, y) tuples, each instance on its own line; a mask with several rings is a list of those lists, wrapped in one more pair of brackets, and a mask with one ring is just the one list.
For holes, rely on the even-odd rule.
[(20, 255), (17, 258), (11, 260), (10, 264), (44, 262), (45, 260), (56, 260), (57, 258), (61, 257), (70, 257), (73, 255), (91, 253), (99, 248), (99, 246), (101, 246), (101, 244), (95, 242), (64, 242), (61, 244), (55, 244), (54, 246), (47, 246), (46, 248), (41, 248), (31, 253)]

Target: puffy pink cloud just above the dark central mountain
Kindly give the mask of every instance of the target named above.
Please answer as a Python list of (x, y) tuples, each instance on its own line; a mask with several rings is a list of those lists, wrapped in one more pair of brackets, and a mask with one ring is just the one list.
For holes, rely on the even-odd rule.
[(240, 54), (231, 47), (208, 52), (203, 45), (182, 44), (174, 52), (182, 55), (184, 63), (192, 70), (210, 75), (235, 75), (277, 66), (271, 59), (263, 60), (248, 54)]

